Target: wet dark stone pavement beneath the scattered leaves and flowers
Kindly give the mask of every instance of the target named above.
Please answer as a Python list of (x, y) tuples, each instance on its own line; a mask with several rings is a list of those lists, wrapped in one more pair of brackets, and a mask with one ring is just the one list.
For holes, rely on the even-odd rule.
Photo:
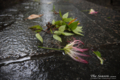
[[(40, 33), (44, 39), (41, 44), (35, 32), (29, 29), (47, 22), (59, 20), (58, 14), (69, 12), (83, 26), (84, 36), (73, 36), (84, 42), (85, 48), (101, 52), (104, 64), (101, 65), (92, 51), (86, 52), (89, 63), (72, 60), (62, 52), (40, 49), (38, 46), (57, 48), (58, 41), (52, 35)], [(86, 5), (86, 6), (85, 6)], [(99, 13), (88, 14), (89, 9)], [(26, 20), (31, 14), (42, 17)], [(69, 40), (71, 37), (63, 37)], [(62, 45), (64, 45), (63, 41)], [(120, 58), (120, 13), (114, 9), (100, 6), (86, 0), (29, 0), (6, 8), (0, 12), (0, 80), (93, 80), (95, 76), (104, 80), (119, 79)], [(109, 76), (105, 79), (105, 76)]]

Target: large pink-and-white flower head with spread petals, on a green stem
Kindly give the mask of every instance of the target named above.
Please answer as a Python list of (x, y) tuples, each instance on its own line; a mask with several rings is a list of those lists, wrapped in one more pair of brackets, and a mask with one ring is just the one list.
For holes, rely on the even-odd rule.
[(80, 56), (88, 56), (88, 55), (82, 54), (82, 52), (87, 51), (88, 49), (79, 48), (79, 45), (81, 43), (84, 44), (80, 40), (74, 40), (73, 42), (70, 42), (64, 47), (64, 51), (75, 61), (82, 62), (82, 63), (88, 63), (86, 60), (80, 57)]

